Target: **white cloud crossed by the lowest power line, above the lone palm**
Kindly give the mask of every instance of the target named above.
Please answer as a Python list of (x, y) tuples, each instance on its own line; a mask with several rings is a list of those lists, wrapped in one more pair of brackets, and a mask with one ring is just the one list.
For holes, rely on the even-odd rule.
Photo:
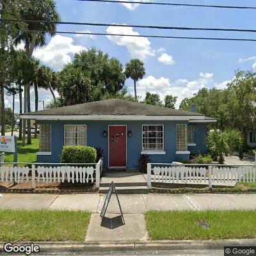
[[(133, 31), (131, 27), (111, 27), (106, 29), (109, 34), (120, 35), (140, 35), (140, 33)], [(107, 36), (109, 40), (116, 45), (125, 46), (132, 58), (145, 59), (147, 56), (154, 56), (154, 51), (151, 49), (150, 41), (147, 37), (136, 36)]]

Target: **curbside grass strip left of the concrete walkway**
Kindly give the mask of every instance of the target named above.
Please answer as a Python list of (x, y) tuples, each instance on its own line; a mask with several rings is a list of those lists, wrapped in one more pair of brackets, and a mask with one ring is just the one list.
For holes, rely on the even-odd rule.
[(90, 212), (0, 211), (0, 241), (84, 242)]

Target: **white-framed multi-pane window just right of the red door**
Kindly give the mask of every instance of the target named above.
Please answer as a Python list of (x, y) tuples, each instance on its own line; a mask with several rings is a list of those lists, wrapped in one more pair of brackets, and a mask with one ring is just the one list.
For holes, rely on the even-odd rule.
[(142, 125), (142, 150), (164, 150), (164, 125)]

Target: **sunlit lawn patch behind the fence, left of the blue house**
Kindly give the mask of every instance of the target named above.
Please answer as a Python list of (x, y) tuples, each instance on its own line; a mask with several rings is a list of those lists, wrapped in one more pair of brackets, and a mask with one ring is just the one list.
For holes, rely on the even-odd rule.
[[(34, 163), (36, 161), (36, 152), (38, 152), (39, 148), (39, 139), (32, 138), (31, 145), (25, 145), (22, 147), (22, 141), (18, 141), (18, 162), (20, 163)], [(6, 153), (5, 154), (5, 162), (12, 163), (13, 162), (13, 154)]]

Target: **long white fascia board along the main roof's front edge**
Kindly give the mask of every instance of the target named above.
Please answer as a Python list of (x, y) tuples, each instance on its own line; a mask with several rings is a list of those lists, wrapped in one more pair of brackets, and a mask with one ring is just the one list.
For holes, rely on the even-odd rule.
[(145, 116), (145, 115), (20, 115), (20, 119), (35, 120), (204, 120), (205, 116)]

